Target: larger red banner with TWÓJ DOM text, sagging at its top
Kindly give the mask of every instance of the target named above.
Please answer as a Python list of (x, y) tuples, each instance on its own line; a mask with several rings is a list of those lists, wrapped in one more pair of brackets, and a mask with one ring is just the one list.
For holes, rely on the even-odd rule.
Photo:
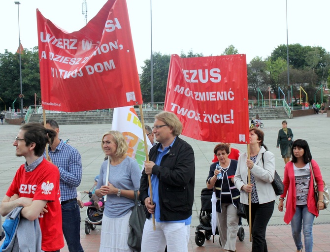
[(37, 10), (44, 109), (76, 112), (142, 104), (125, 0), (108, 0), (68, 33)]

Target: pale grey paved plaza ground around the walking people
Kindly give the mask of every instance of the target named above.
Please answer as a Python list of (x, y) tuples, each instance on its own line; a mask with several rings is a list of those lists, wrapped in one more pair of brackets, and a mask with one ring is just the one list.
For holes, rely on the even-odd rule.
[[(47, 118), (51, 118), (48, 116)], [(278, 130), (281, 128), (281, 122), (283, 120), (264, 120), (263, 131), (265, 133), (264, 144), (268, 147), (268, 150), (275, 154), (276, 158), (276, 170), (279, 175), (283, 178), (284, 173), (284, 161), (280, 155), (280, 150), (276, 148), (276, 140)], [(327, 115), (310, 115), (305, 117), (297, 117), (295, 119), (288, 119), (288, 127), (290, 127), (294, 133), (294, 139), (305, 139), (311, 149), (313, 159), (315, 159), (321, 167), (321, 172), (325, 181), (330, 183), (330, 145), (329, 145), (329, 126), (330, 118)], [(152, 126), (152, 124), (148, 124)], [(248, 126), (248, 124), (247, 124)], [(69, 144), (77, 148), (82, 157), (83, 164), (83, 177), (82, 182), (78, 188), (79, 191), (89, 190), (93, 187), (94, 177), (99, 174), (100, 165), (104, 159), (104, 154), (101, 150), (101, 137), (103, 133), (111, 129), (111, 125), (60, 125), (60, 138), (70, 139)], [(0, 197), (4, 196), (6, 190), (11, 183), (14, 174), (25, 159), (15, 156), (15, 147), (12, 145), (17, 133), (19, 126), (15, 125), (0, 125)], [(219, 128), (219, 130), (221, 130)], [(190, 251), (220, 251), (218, 245), (219, 237), (216, 236), (216, 242), (213, 244), (211, 241), (206, 241), (203, 247), (198, 247), (195, 244), (195, 228), (199, 224), (198, 215), (201, 207), (200, 203), (200, 191), (205, 188), (205, 182), (208, 175), (211, 160), (213, 158), (213, 148), (217, 144), (215, 142), (202, 142), (185, 136), (180, 136), (188, 143), (190, 143), (195, 151), (196, 161), (196, 184), (195, 184), (195, 202), (193, 208), (193, 219), (191, 228), (191, 247)], [(246, 145), (232, 144), (233, 148), (238, 149), (241, 153), (247, 149)], [(83, 201), (88, 201), (89, 198), (84, 193), (81, 194)], [(283, 243), (287, 247), (282, 247), (282, 250), (271, 250), (269, 251), (295, 251), (293, 241), (291, 237), (291, 229), (289, 225), (286, 225), (283, 221), (284, 212), (277, 210), (278, 199), (276, 200), (275, 209), (273, 216), (269, 222), (269, 228), (267, 230), (267, 242), (268, 239), (274, 238), (274, 248), (278, 248), (278, 243)], [(98, 251), (99, 243), (99, 228), (91, 231), (90, 235), (84, 235), (84, 220), (86, 218), (86, 209), (81, 209), (81, 233), (82, 243), (85, 241), (91, 245), (94, 250), (89, 250), (86, 245), (85, 251)], [(2, 218), (3, 221), (4, 218)], [(330, 241), (328, 239), (330, 230), (330, 210), (323, 210), (320, 216), (314, 221), (316, 224), (314, 232), (314, 241), (319, 243), (320, 237), (326, 237), (327, 239), (322, 240), (320, 246), (314, 246), (313, 251), (330, 251)], [(246, 225), (246, 221), (243, 220), (243, 225)], [(251, 249), (251, 243), (249, 243), (248, 227), (244, 226), (245, 229), (245, 240), (239, 242), (237, 239), (237, 251), (249, 251)], [(325, 231), (323, 234), (322, 232)], [(94, 233), (93, 233), (94, 232)], [(321, 234), (320, 234), (321, 233)], [(320, 237), (317, 235), (320, 234)], [(322, 236), (323, 235), (323, 236)], [(211, 238), (212, 239), (212, 238)], [(285, 241), (284, 241), (285, 240)], [(97, 248), (95, 248), (97, 246)], [(284, 246), (284, 245), (282, 245)], [(209, 249), (207, 249), (209, 248)], [(214, 250), (212, 249), (214, 248)], [(245, 249), (244, 249), (245, 248)], [(287, 248), (287, 249), (285, 249)], [(289, 249), (290, 248), (290, 249)], [(65, 249), (62, 251), (66, 251)]]

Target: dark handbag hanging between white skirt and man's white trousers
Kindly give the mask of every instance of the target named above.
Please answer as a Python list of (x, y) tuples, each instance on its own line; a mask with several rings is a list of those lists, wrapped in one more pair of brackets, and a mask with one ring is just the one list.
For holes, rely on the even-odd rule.
[(127, 244), (132, 251), (141, 252), (142, 232), (146, 216), (144, 207), (141, 205), (137, 197), (137, 191), (134, 191), (135, 206), (133, 207), (132, 214), (129, 220), (130, 233)]

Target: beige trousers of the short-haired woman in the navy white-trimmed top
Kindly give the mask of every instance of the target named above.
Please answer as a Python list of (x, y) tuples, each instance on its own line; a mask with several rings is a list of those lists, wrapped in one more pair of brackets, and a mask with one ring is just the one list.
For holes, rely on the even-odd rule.
[(222, 213), (217, 212), (217, 223), (221, 246), (224, 250), (236, 250), (238, 215), (233, 204), (221, 204)]

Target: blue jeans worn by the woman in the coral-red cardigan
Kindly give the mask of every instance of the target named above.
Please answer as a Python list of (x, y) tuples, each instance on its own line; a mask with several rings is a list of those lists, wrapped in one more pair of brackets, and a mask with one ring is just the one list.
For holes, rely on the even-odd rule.
[(301, 250), (301, 227), (304, 235), (305, 252), (313, 250), (313, 222), (315, 215), (308, 212), (307, 205), (296, 205), (296, 213), (291, 220), (292, 237), (297, 250)]

